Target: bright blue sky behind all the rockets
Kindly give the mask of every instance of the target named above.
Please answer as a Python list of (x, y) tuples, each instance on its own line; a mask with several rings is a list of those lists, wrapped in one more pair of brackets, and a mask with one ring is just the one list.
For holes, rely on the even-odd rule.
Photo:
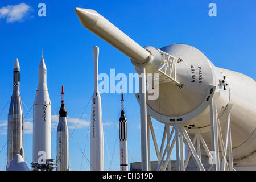
[[(46, 17), (38, 16), (38, 4), (46, 4)], [(217, 16), (208, 15), (208, 5), (217, 5)], [(94, 9), (141, 46), (161, 48), (185, 43), (202, 51), (214, 65), (256, 77), (256, 2), (251, 1), (6, 1), (26, 4), (23, 16), (0, 14), (0, 111), (13, 92), (13, 65), (20, 64), (20, 94), (24, 115), (32, 107), (38, 84), (38, 67), (43, 48), (47, 66), (47, 85), (52, 102), (52, 158), (56, 157), (56, 114), (60, 109), (61, 85), (69, 116), (70, 162), (73, 170), (88, 170), (90, 97), (93, 93), (92, 47), (100, 47), (99, 73), (135, 73), (127, 56), (82, 27), (75, 7)], [(27, 7), (26, 6), (26, 7)], [(9, 6), (10, 8), (11, 6)], [(1, 12), (1, 11), (0, 11)], [(9, 18), (8, 18), (9, 17)], [(13, 18), (13, 19), (10, 19)], [(119, 170), (118, 119), (120, 94), (101, 94), (104, 122), (105, 169)], [(86, 105), (89, 105), (83, 113)], [(27, 109), (26, 109), (27, 107)], [(0, 169), (5, 169), (6, 121), (9, 104), (0, 115)], [(134, 94), (125, 94), (128, 119), (129, 163), (141, 160), (139, 105)], [(82, 115), (82, 117), (81, 117)], [(75, 131), (76, 122), (81, 117)], [(32, 110), (26, 116), (24, 150), (32, 162)], [(163, 125), (153, 121), (160, 142)], [(85, 147), (86, 143), (86, 147)], [(5, 146), (5, 147), (3, 147)], [(156, 160), (151, 144), (151, 160)], [(83, 158), (83, 160), (82, 160)], [(175, 156), (172, 156), (174, 159)], [(111, 166), (110, 166), (111, 163)]]

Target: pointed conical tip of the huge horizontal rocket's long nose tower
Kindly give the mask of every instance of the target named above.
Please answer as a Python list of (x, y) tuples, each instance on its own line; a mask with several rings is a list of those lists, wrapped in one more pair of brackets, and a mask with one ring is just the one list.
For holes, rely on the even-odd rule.
[(85, 28), (92, 28), (98, 21), (98, 13), (94, 10), (76, 7), (75, 11)]

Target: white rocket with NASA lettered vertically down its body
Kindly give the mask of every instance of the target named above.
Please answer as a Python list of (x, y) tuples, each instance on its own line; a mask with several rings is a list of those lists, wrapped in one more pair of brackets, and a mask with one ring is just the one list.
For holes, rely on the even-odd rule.
[(46, 64), (42, 55), (33, 106), (33, 163), (46, 164), (47, 159), (51, 159), (51, 101), (46, 82)]

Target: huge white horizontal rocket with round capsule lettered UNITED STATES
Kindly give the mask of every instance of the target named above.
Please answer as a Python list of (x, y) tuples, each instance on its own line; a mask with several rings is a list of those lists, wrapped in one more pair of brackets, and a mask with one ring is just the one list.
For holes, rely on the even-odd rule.
[[(255, 80), (238, 72), (215, 67), (199, 49), (186, 44), (173, 44), (160, 50), (150, 46), (143, 48), (96, 11), (80, 8), (76, 8), (75, 11), (85, 28), (129, 56), (135, 69), (139, 69), (143, 74), (146, 72), (160, 75), (158, 98), (146, 100), (146, 94), (140, 93), (141, 121), (143, 121), (141, 123), (144, 132), (141, 137), (144, 166), (142, 169), (147, 169), (148, 166), (145, 150), (147, 122), (143, 118), (146, 117), (145, 114), (166, 125), (179, 123), (181, 126), (188, 126), (187, 131), (191, 134), (193, 127), (202, 133), (208, 148), (214, 144), (212, 150), (218, 148), (216, 144), (218, 138), (215, 132), (213, 140), (215, 142), (211, 142), (213, 127), (215, 127), (214, 131), (217, 130), (217, 126), (211, 125), (211, 122), (219, 119), (222, 133), (228, 133), (225, 132), (226, 126), (223, 123), (230, 118), (231, 137), (229, 138), (232, 138), (233, 162), (241, 169), (255, 169)], [(168, 60), (161, 58), (163, 54), (172, 56), (174, 72), (171, 72), (170, 62), (168, 65)], [(165, 72), (163, 67), (166, 68)], [(144, 88), (146, 84), (143, 82), (142, 89)]]

